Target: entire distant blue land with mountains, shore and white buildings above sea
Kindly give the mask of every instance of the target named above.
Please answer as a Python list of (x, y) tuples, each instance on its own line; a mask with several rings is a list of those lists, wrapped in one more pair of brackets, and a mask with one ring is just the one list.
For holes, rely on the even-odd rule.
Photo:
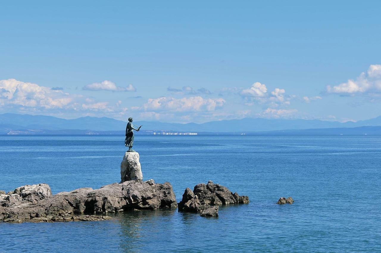
[[(146, 135), (381, 135), (381, 116), (364, 121), (243, 118), (197, 123), (137, 121)], [(0, 114), (0, 135), (125, 135), (126, 122), (111, 118), (62, 119)]]

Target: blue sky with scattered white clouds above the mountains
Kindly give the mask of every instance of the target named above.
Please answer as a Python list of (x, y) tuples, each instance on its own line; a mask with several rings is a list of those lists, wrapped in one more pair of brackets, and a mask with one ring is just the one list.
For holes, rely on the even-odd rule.
[(6, 1), (0, 113), (381, 115), (380, 1)]

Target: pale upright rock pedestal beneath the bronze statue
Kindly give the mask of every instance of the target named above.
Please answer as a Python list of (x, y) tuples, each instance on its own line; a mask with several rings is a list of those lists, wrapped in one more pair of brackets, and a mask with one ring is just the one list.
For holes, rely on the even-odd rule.
[(131, 180), (136, 182), (143, 180), (138, 152), (126, 152), (120, 164), (120, 183)]

